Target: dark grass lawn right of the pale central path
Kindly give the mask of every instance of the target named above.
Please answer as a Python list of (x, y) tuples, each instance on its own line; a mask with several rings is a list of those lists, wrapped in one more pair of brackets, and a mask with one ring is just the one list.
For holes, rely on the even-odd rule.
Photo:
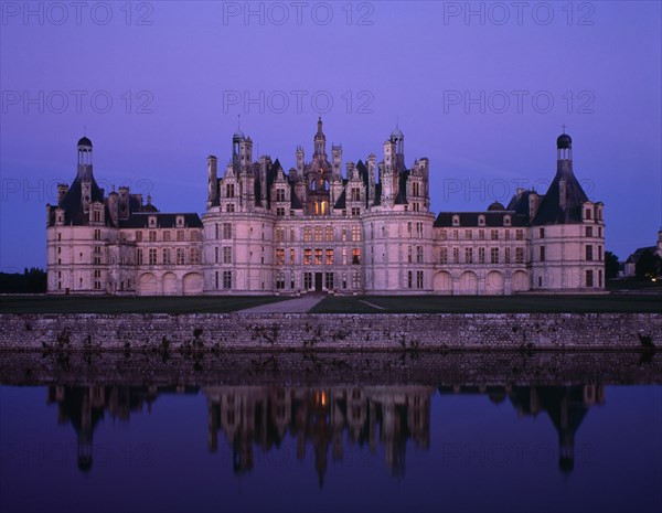
[(311, 313), (526, 312), (662, 312), (662, 296), (329, 296), (311, 310)]

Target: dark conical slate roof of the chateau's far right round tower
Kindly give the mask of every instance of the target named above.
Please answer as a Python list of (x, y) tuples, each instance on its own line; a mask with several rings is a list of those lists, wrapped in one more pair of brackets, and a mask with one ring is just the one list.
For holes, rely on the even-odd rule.
[[(559, 182), (562, 179), (566, 181), (565, 207), (562, 207), (559, 202)], [(572, 168), (559, 165), (556, 177), (554, 177), (547, 193), (541, 202), (533, 225), (581, 223), (581, 204), (586, 201), (588, 201), (588, 197), (579, 181), (575, 178)]]

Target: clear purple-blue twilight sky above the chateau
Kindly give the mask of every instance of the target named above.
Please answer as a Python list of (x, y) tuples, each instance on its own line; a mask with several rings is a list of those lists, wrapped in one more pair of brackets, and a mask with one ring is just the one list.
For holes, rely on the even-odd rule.
[(658, 1), (255, 2), (247, 19), (245, 2), (29, 6), (0, 2), (4, 271), (45, 266), (44, 205), (75, 177), (84, 127), (102, 186), (202, 213), (205, 158), (229, 159), (237, 114), (286, 170), (297, 145), (312, 153), (320, 114), (344, 162), (381, 157), (398, 118), (407, 163), (430, 159), (435, 213), (508, 202), (517, 184), (544, 193), (565, 124), (607, 249), (655, 243)]

